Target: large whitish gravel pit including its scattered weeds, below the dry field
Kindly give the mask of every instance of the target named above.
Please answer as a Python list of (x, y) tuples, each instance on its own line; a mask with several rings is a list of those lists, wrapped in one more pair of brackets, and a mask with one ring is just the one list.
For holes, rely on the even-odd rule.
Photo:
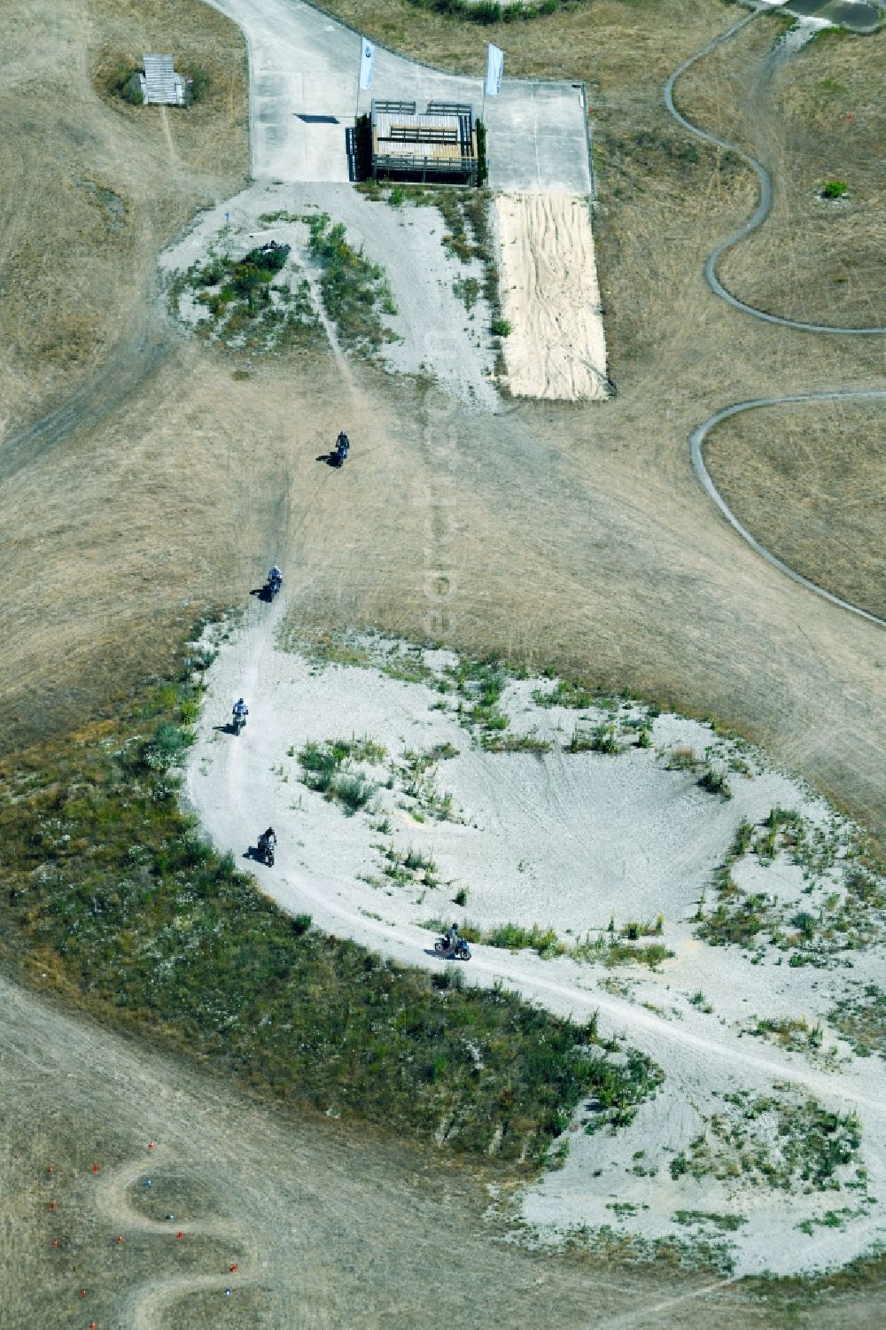
[[(648, 1257), (664, 1241), (734, 1275), (870, 1252), (886, 1233), (886, 1075), (830, 1013), (877, 982), (869, 943), (882, 919), (825, 927), (850, 919), (857, 829), (709, 725), (576, 697), (551, 678), (459, 676), (454, 656), (378, 638), (350, 642), (347, 664), (322, 661), (285, 649), (281, 625), (279, 604), (255, 606), (217, 640), (186, 771), (213, 842), (250, 864), (271, 823), (277, 864), (251, 863), (261, 888), (403, 963), (439, 966), (436, 920), (486, 939), (504, 923), (552, 928), (549, 959), (475, 943), (466, 979), (579, 1019), (596, 1011), (664, 1072), (617, 1132), (588, 1132), (595, 1105), (579, 1105), (559, 1166), (504, 1213), (543, 1242), (624, 1240)], [(225, 724), (241, 693), (250, 717), (234, 738)], [(617, 753), (583, 747), (601, 734)], [(362, 806), (310, 787), (301, 755), (334, 741)], [(705, 771), (732, 797), (701, 786)], [(790, 838), (764, 853), (773, 809), (790, 810)], [(744, 823), (756, 849), (732, 878), (773, 912), (781, 944), (761, 934), (714, 946), (698, 932)], [(804, 919), (819, 942), (804, 943)], [(636, 948), (668, 952), (653, 968), (633, 959), (632, 922)], [(609, 959), (613, 943), (628, 951)], [(761, 1020), (794, 1021), (794, 1036), (780, 1043)]]

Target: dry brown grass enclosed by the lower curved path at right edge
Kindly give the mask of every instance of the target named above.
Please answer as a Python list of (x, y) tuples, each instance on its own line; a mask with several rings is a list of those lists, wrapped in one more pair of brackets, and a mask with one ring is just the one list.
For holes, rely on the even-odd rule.
[(805, 577), (886, 617), (883, 406), (819, 402), (732, 416), (705, 460), (736, 516)]

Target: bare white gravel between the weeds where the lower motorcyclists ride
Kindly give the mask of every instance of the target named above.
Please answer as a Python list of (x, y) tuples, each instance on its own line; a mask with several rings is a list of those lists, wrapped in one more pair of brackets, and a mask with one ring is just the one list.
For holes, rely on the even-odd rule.
[[(881, 962), (871, 952), (850, 952), (826, 968), (796, 968), (782, 964), (774, 948), (753, 962), (734, 947), (710, 947), (693, 936), (700, 892), (741, 818), (758, 822), (780, 803), (813, 823), (834, 825), (823, 801), (769, 769), (760, 754), (744, 747), (738, 754), (708, 726), (676, 716), (655, 720), (651, 749), (617, 757), (564, 753), (576, 713), (532, 702), (533, 688), (552, 686), (541, 680), (510, 684), (500, 705), (511, 717), (508, 733), (549, 734), (557, 749), (540, 757), (484, 751), (459, 724), (451, 696), (369, 668), (311, 665), (275, 645), (281, 617), (279, 602), (255, 606), (209, 670), (186, 797), (213, 842), (238, 858), (262, 827), (274, 825), (277, 866), (253, 868), (283, 908), (307, 911), (321, 928), (428, 968), (439, 962), (432, 932), (420, 924), (432, 916), (467, 915), (484, 927), (553, 924), (567, 939), (605, 927), (611, 914), (616, 927), (631, 918), (664, 916), (663, 936), (644, 939), (674, 952), (657, 971), (612, 970), (567, 956), (543, 960), (532, 951), (488, 946), (475, 946), (464, 968), (471, 982), (503, 980), (561, 1013), (587, 1019), (597, 1011), (604, 1032), (647, 1052), (666, 1077), (617, 1134), (587, 1134), (581, 1127), (589, 1109), (576, 1113), (564, 1134), (571, 1146), (564, 1165), (520, 1197), (520, 1217), (539, 1238), (557, 1241), (581, 1230), (599, 1241), (611, 1229), (640, 1246), (681, 1241), (688, 1260), (706, 1240), (726, 1250), (724, 1260), (736, 1274), (833, 1267), (882, 1241), (883, 1063), (855, 1057), (826, 1020), (849, 983), (877, 980)], [(221, 728), (241, 693), (250, 717), (234, 738)], [(623, 712), (631, 714), (631, 708)], [(378, 783), (369, 810), (346, 817), (302, 783), (298, 753), (309, 741), (351, 737), (371, 738), (387, 755), (363, 767)], [(404, 754), (439, 743), (458, 749), (435, 769), (436, 790), (451, 793), (456, 822), (419, 821), (402, 789)], [(713, 745), (716, 761), (741, 757), (750, 774), (730, 774), (734, 798), (722, 801), (700, 790), (690, 773), (666, 769), (674, 743), (697, 753)], [(386, 846), (431, 854), (440, 886), (391, 880), (383, 871)], [(744, 862), (740, 867), (745, 870)], [(745, 871), (764, 875), (761, 890), (785, 900), (804, 890), (784, 855), (770, 868)], [(466, 908), (452, 904), (459, 886), (468, 888)], [(705, 1001), (693, 1004), (700, 991)], [(821, 1020), (821, 1048), (804, 1055), (752, 1037), (748, 1027), (764, 1016)], [(796, 1121), (805, 1120), (810, 1099), (834, 1112), (857, 1112), (861, 1160), (837, 1169), (835, 1189), (804, 1188), (798, 1178), (788, 1189), (766, 1185), (742, 1166), (741, 1156), (765, 1148), (780, 1158), (777, 1112), (752, 1121), (722, 1099), (728, 1092), (770, 1097), (778, 1112), (793, 1107)], [(746, 1134), (741, 1150), (722, 1144), (714, 1115), (734, 1119), (736, 1130)], [(690, 1152), (702, 1133), (721, 1165), (734, 1154), (733, 1176), (672, 1177), (674, 1154)], [(690, 1218), (684, 1213), (680, 1222), (677, 1212)], [(837, 1221), (823, 1222), (827, 1212)], [(712, 1216), (741, 1224), (722, 1232)], [(804, 1222), (809, 1233), (798, 1229)]]

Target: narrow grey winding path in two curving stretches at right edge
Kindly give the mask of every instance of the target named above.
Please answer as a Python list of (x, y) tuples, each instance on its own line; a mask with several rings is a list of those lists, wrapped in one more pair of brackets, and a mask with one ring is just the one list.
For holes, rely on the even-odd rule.
[[(827, 335), (837, 335), (837, 336), (883, 336), (886, 334), (886, 327), (846, 329), (846, 327), (835, 327), (829, 323), (802, 323), (797, 319), (782, 318), (778, 314), (768, 314), (765, 310), (758, 310), (753, 305), (746, 305), (744, 301), (740, 301), (736, 295), (732, 294), (732, 291), (729, 291), (722, 285), (722, 282), (717, 277), (717, 263), (720, 261), (721, 254), (732, 249), (740, 241), (745, 239), (748, 235), (752, 234), (752, 231), (756, 231), (757, 227), (762, 226), (762, 223), (769, 217), (773, 201), (772, 177), (766, 170), (766, 168), (762, 165), (762, 162), (758, 162), (756, 157), (752, 157), (749, 153), (745, 153), (740, 148), (736, 148), (734, 144), (728, 142), (725, 138), (717, 138), (716, 134), (709, 134), (706, 130), (700, 129), (697, 125), (693, 125), (690, 120), (686, 120), (686, 117), (681, 114), (674, 105), (673, 92), (677, 80), (680, 78), (681, 74), (686, 72), (686, 69), (692, 68), (692, 65), (694, 65), (697, 60), (701, 60), (702, 56), (709, 55), (717, 47), (722, 45), (725, 41), (729, 41), (730, 37), (733, 37), (737, 32), (745, 28), (753, 19), (756, 19), (758, 12), (760, 11), (754, 11), (753, 13), (748, 15), (746, 19), (742, 19), (740, 23), (734, 24), (732, 28), (721, 33), (718, 37), (714, 37), (713, 41), (709, 41), (708, 45), (702, 47), (701, 51), (697, 51), (694, 56), (690, 56), (688, 60), (684, 60), (684, 63), (677, 69), (674, 69), (674, 72), (670, 74), (664, 86), (665, 106), (668, 108), (673, 118), (677, 121), (677, 124), (681, 125), (684, 129), (686, 129), (690, 134), (694, 134), (694, 137), (700, 138), (702, 142), (713, 144), (714, 148), (724, 148), (728, 152), (734, 153), (736, 157), (741, 158), (741, 161), (745, 162), (745, 165), (750, 166), (750, 169), (754, 172), (760, 182), (760, 201), (757, 203), (754, 213), (748, 218), (744, 226), (741, 226), (737, 231), (734, 231), (734, 234), (729, 235), (725, 241), (721, 241), (720, 245), (717, 245), (716, 249), (710, 251), (710, 254), (705, 261), (705, 269), (704, 269), (705, 281), (708, 282), (708, 286), (714, 293), (714, 295), (718, 295), (722, 301), (726, 302), (726, 305), (732, 305), (733, 309), (741, 310), (742, 314), (750, 314), (752, 318), (762, 319), (765, 323), (776, 323), (778, 327), (793, 329), (798, 332), (823, 332)], [(692, 459), (692, 468), (698, 476), (698, 480), (701, 481), (706, 492), (717, 504), (726, 521), (737, 531), (741, 539), (745, 540), (756, 553), (758, 553), (762, 559), (770, 563), (773, 568), (777, 568), (780, 572), (785, 573), (786, 577), (790, 577), (793, 581), (800, 583), (800, 585), (805, 587), (806, 591), (812, 591), (817, 596), (821, 596), (823, 600), (830, 601), (831, 605), (837, 605), (839, 606), (839, 609), (847, 609), (850, 613), (857, 614), (859, 618), (866, 618), (871, 624), (878, 624), (879, 626), (886, 628), (886, 620), (881, 618), (878, 614), (871, 614), (866, 609), (861, 609), (858, 605), (853, 605), (850, 601), (841, 600), (839, 596), (834, 596), (831, 592), (825, 591), (823, 587), (819, 587), (817, 583), (810, 581), (808, 577), (804, 577), (802, 573), (796, 572), (781, 559), (773, 555), (769, 549), (766, 549), (765, 545), (761, 545), (760, 541), (750, 535), (748, 528), (738, 521), (732, 508), (729, 508), (725, 499), (714, 485), (713, 479), (710, 477), (710, 472), (705, 467), (704, 462), (704, 442), (709, 431), (713, 430), (713, 427), (718, 424), (721, 420), (726, 420), (729, 416), (738, 415), (741, 411), (754, 411), (760, 407), (776, 407), (786, 402), (859, 402), (859, 400), (870, 402), (882, 399), (886, 399), (886, 390), (854, 391), (849, 388), (845, 390), (834, 388), (827, 392), (798, 392), (781, 398), (754, 398), (749, 402), (736, 402), (732, 406), (724, 407), (721, 411), (717, 411), (714, 415), (709, 416), (702, 424), (697, 426), (692, 431), (692, 435), (689, 436), (689, 455)]]

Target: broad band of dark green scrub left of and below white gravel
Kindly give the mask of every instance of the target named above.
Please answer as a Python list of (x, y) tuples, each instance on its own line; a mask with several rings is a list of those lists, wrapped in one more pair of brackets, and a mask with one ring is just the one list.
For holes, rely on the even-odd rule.
[[(177, 798), (200, 694), (188, 666), (121, 720), (3, 763), (7, 963), (262, 1097), (466, 1154), (537, 1162), (583, 1097), (636, 1100), (596, 1021), (440, 988), (283, 914), (209, 849)], [(349, 757), (378, 753), (354, 739), (303, 754), (333, 783)]]

